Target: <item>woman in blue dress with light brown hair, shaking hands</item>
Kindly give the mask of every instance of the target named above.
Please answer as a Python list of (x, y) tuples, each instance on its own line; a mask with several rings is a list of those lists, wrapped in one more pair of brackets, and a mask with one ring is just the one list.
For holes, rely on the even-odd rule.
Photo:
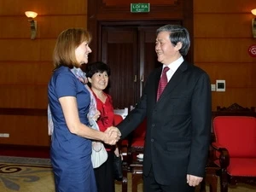
[(54, 126), (50, 159), (57, 192), (96, 192), (91, 140), (111, 145), (119, 140), (114, 127), (102, 132), (89, 126), (90, 92), (80, 67), (88, 62), (90, 40), (89, 32), (72, 28), (61, 32), (55, 44), (48, 97)]

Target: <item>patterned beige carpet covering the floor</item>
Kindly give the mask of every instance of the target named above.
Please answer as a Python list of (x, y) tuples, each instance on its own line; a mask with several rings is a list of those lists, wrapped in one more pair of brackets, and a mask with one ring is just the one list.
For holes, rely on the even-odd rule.
[[(116, 182), (115, 189), (121, 192), (120, 182)], [(49, 159), (0, 156), (0, 191), (54, 192)], [(128, 192), (131, 192), (131, 173), (128, 173)], [(138, 192), (143, 192), (143, 183), (138, 184)], [(239, 184), (230, 187), (229, 192), (256, 192), (256, 188)]]

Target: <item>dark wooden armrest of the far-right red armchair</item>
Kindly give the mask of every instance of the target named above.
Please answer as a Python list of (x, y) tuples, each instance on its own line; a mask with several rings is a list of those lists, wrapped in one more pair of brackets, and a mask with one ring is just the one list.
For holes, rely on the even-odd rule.
[(224, 148), (219, 143), (212, 143), (212, 148), (218, 151), (218, 160), (221, 168), (226, 169), (230, 166), (230, 154), (227, 148)]

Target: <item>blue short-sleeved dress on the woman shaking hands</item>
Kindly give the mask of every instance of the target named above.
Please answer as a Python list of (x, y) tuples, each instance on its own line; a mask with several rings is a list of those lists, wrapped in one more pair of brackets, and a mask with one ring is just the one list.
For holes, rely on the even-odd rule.
[(58, 100), (62, 96), (77, 98), (79, 119), (84, 125), (89, 125), (87, 113), (90, 92), (68, 67), (56, 69), (48, 86), (49, 108), (54, 123), (50, 159), (55, 176), (55, 191), (96, 192), (96, 179), (91, 163), (91, 141), (68, 130)]

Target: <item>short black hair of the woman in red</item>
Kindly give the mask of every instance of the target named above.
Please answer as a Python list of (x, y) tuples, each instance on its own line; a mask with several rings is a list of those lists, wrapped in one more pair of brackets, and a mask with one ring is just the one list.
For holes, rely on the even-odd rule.
[(86, 64), (84, 72), (87, 78), (91, 78), (95, 73), (103, 72), (106, 72), (110, 76), (110, 67), (102, 61), (96, 61)]

